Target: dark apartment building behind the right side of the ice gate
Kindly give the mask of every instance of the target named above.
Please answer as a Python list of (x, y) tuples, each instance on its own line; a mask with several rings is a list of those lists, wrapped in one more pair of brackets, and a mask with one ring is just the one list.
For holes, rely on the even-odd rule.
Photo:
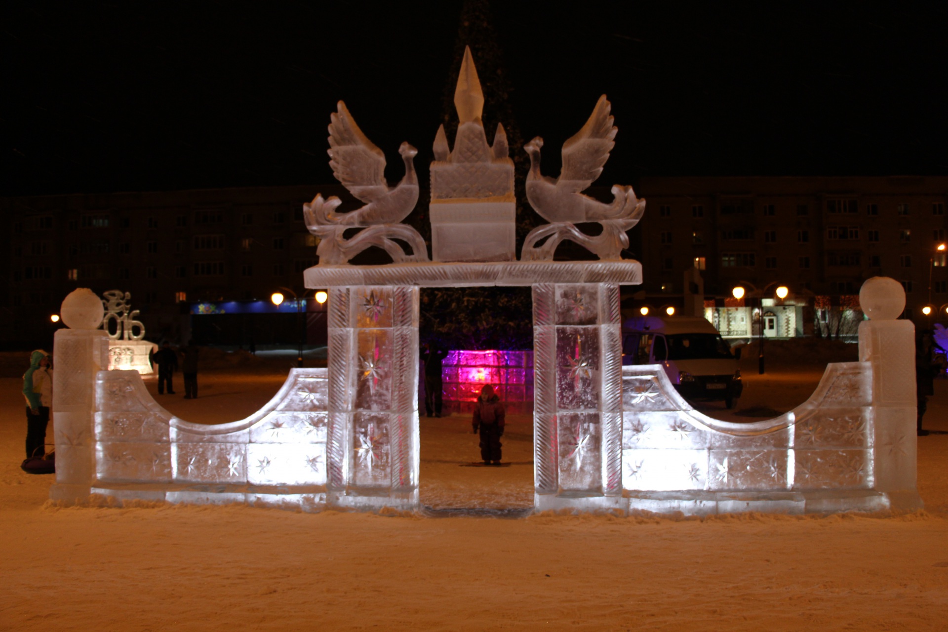
[(905, 316), (930, 304), (946, 319), (948, 177), (647, 177), (636, 192), (649, 296), (682, 296), (692, 266), (719, 302), (737, 285), (838, 300), (886, 276), (905, 288)]

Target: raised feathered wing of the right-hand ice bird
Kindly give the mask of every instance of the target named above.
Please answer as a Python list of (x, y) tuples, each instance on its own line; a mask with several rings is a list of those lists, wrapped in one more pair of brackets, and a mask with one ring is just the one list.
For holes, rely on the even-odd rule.
[(563, 143), (563, 169), (556, 189), (578, 193), (587, 189), (609, 160), (618, 128), (612, 125), (611, 103), (603, 95), (583, 128)]

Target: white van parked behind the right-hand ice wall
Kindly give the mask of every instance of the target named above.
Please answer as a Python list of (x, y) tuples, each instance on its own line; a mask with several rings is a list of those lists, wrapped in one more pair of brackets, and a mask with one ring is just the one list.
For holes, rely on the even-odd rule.
[(738, 357), (704, 318), (639, 316), (622, 325), (622, 364), (660, 364), (686, 400), (723, 400), (744, 388)]

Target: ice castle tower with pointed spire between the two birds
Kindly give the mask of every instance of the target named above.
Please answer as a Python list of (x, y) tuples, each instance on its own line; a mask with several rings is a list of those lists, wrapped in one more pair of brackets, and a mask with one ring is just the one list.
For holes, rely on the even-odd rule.
[(470, 48), (454, 92), (458, 132), (453, 149), (444, 126), (431, 163), (431, 259), (436, 262), (509, 262), (515, 258), (517, 207), (514, 163), (498, 125), (487, 144), (483, 91)]

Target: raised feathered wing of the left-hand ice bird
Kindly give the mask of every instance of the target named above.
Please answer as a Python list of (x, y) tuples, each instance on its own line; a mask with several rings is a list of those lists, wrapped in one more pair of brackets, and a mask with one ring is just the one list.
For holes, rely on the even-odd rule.
[(346, 104), (338, 103), (338, 112), (329, 124), (329, 166), (333, 175), (362, 202), (369, 204), (389, 192), (385, 183), (385, 154), (358, 129)]

